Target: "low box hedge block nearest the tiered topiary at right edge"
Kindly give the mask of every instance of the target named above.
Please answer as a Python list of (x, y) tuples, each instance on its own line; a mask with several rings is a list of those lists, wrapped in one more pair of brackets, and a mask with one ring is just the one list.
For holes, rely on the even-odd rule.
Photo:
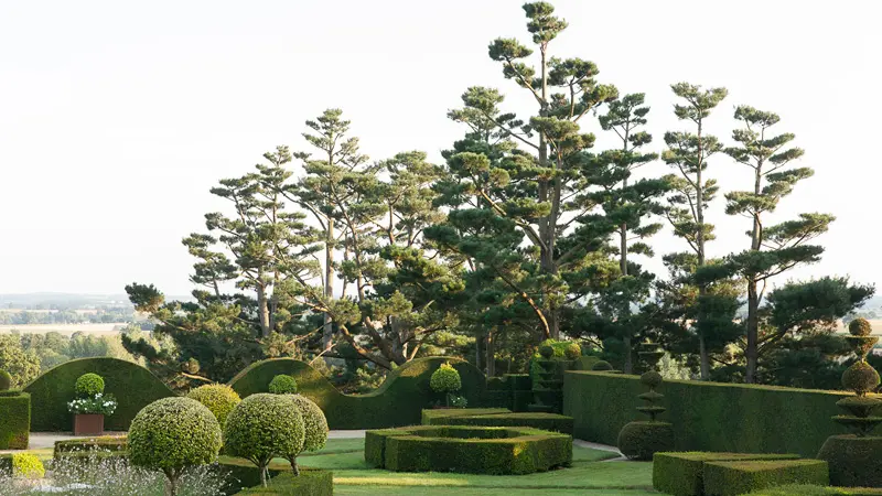
[(738, 496), (783, 484), (830, 482), (827, 462), (821, 460), (762, 460), (708, 462), (704, 464), (704, 494)]

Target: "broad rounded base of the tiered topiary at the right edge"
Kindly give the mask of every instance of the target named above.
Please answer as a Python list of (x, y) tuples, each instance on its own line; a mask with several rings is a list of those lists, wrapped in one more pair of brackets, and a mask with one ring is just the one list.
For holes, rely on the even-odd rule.
[(882, 487), (882, 436), (831, 435), (817, 454), (830, 464), (830, 484)]

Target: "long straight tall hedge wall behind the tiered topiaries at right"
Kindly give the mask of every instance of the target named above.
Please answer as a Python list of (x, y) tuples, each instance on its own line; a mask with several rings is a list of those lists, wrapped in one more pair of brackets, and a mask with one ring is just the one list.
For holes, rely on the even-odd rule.
[[(677, 451), (814, 457), (827, 436), (845, 433), (830, 420), (845, 392), (687, 380), (665, 381), (659, 391), (668, 409), (659, 419), (674, 424)], [(563, 413), (573, 418), (573, 436), (615, 445), (638, 417), (641, 392), (637, 376), (566, 373)]]

